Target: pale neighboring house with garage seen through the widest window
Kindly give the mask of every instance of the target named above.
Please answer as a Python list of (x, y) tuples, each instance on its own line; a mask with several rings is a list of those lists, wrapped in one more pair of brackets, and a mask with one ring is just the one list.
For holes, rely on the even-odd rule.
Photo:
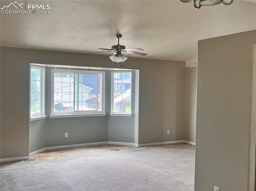
[[(54, 78), (54, 102), (73, 102), (74, 101), (74, 84), (72, 78)], [(90, 98), (90, 91), (92, 88), (82, 85), (81, 83), (75, 83), (75, 92), (78, 92), (80, 100), (79, 104), (82, 104), (82, 101), (85, 102), (86, 99)]]

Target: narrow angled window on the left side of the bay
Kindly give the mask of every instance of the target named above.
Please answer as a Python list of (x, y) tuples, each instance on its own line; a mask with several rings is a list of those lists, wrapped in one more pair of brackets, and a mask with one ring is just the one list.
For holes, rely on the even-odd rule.
[(31, 66), (30, 118), (39, 116), (44, 116), (44, 68)]

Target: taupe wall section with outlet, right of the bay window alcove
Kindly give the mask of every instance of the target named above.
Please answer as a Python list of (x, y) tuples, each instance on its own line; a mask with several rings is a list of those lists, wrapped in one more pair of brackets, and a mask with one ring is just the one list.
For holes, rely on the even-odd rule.
[(183, 140), (185, 63), (176, 63), (147, 60), (138, 65), (139, 144)]

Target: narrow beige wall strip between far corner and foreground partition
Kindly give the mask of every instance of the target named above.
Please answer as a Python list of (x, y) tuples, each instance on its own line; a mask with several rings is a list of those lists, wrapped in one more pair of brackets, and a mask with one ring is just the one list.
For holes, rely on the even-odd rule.
[(196, 142), (197, 67), (185, 69), (184, 140)]

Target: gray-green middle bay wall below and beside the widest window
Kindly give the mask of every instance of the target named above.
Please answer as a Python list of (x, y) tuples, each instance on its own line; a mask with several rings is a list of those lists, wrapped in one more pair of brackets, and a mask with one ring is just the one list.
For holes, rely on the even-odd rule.
[[(51, 72), (54, 68), (46, 69), (46, 131), (45, 147), (83, 144), (91, 142), (108, 141), (108, 118), (107, 116), (97, 117), (76, 117), (76, 118), (50, 118), (51, 113)], [(106, 75), (106, 82), (108, 75)], [(107, 95), (106, 100), (108, 100)], [(30, 129), (34, 126), (30, 123)], [(68, 132), (68, 138), (64, 134)], [(37, 136), (36, 134), (31, 136)], [(33, 144), (30, 140), (30, 145)], [(38, 148), (37, 150), (39, 150)], [(33, 152), (35, 150), (30, 150)]]

